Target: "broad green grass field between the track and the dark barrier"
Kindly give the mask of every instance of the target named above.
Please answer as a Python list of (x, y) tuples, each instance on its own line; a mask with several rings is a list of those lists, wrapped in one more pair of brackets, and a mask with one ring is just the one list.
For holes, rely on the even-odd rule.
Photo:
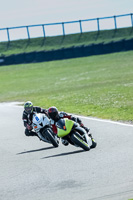
[(133, 51), (0, 67), (0, 102), (133, 121)]

